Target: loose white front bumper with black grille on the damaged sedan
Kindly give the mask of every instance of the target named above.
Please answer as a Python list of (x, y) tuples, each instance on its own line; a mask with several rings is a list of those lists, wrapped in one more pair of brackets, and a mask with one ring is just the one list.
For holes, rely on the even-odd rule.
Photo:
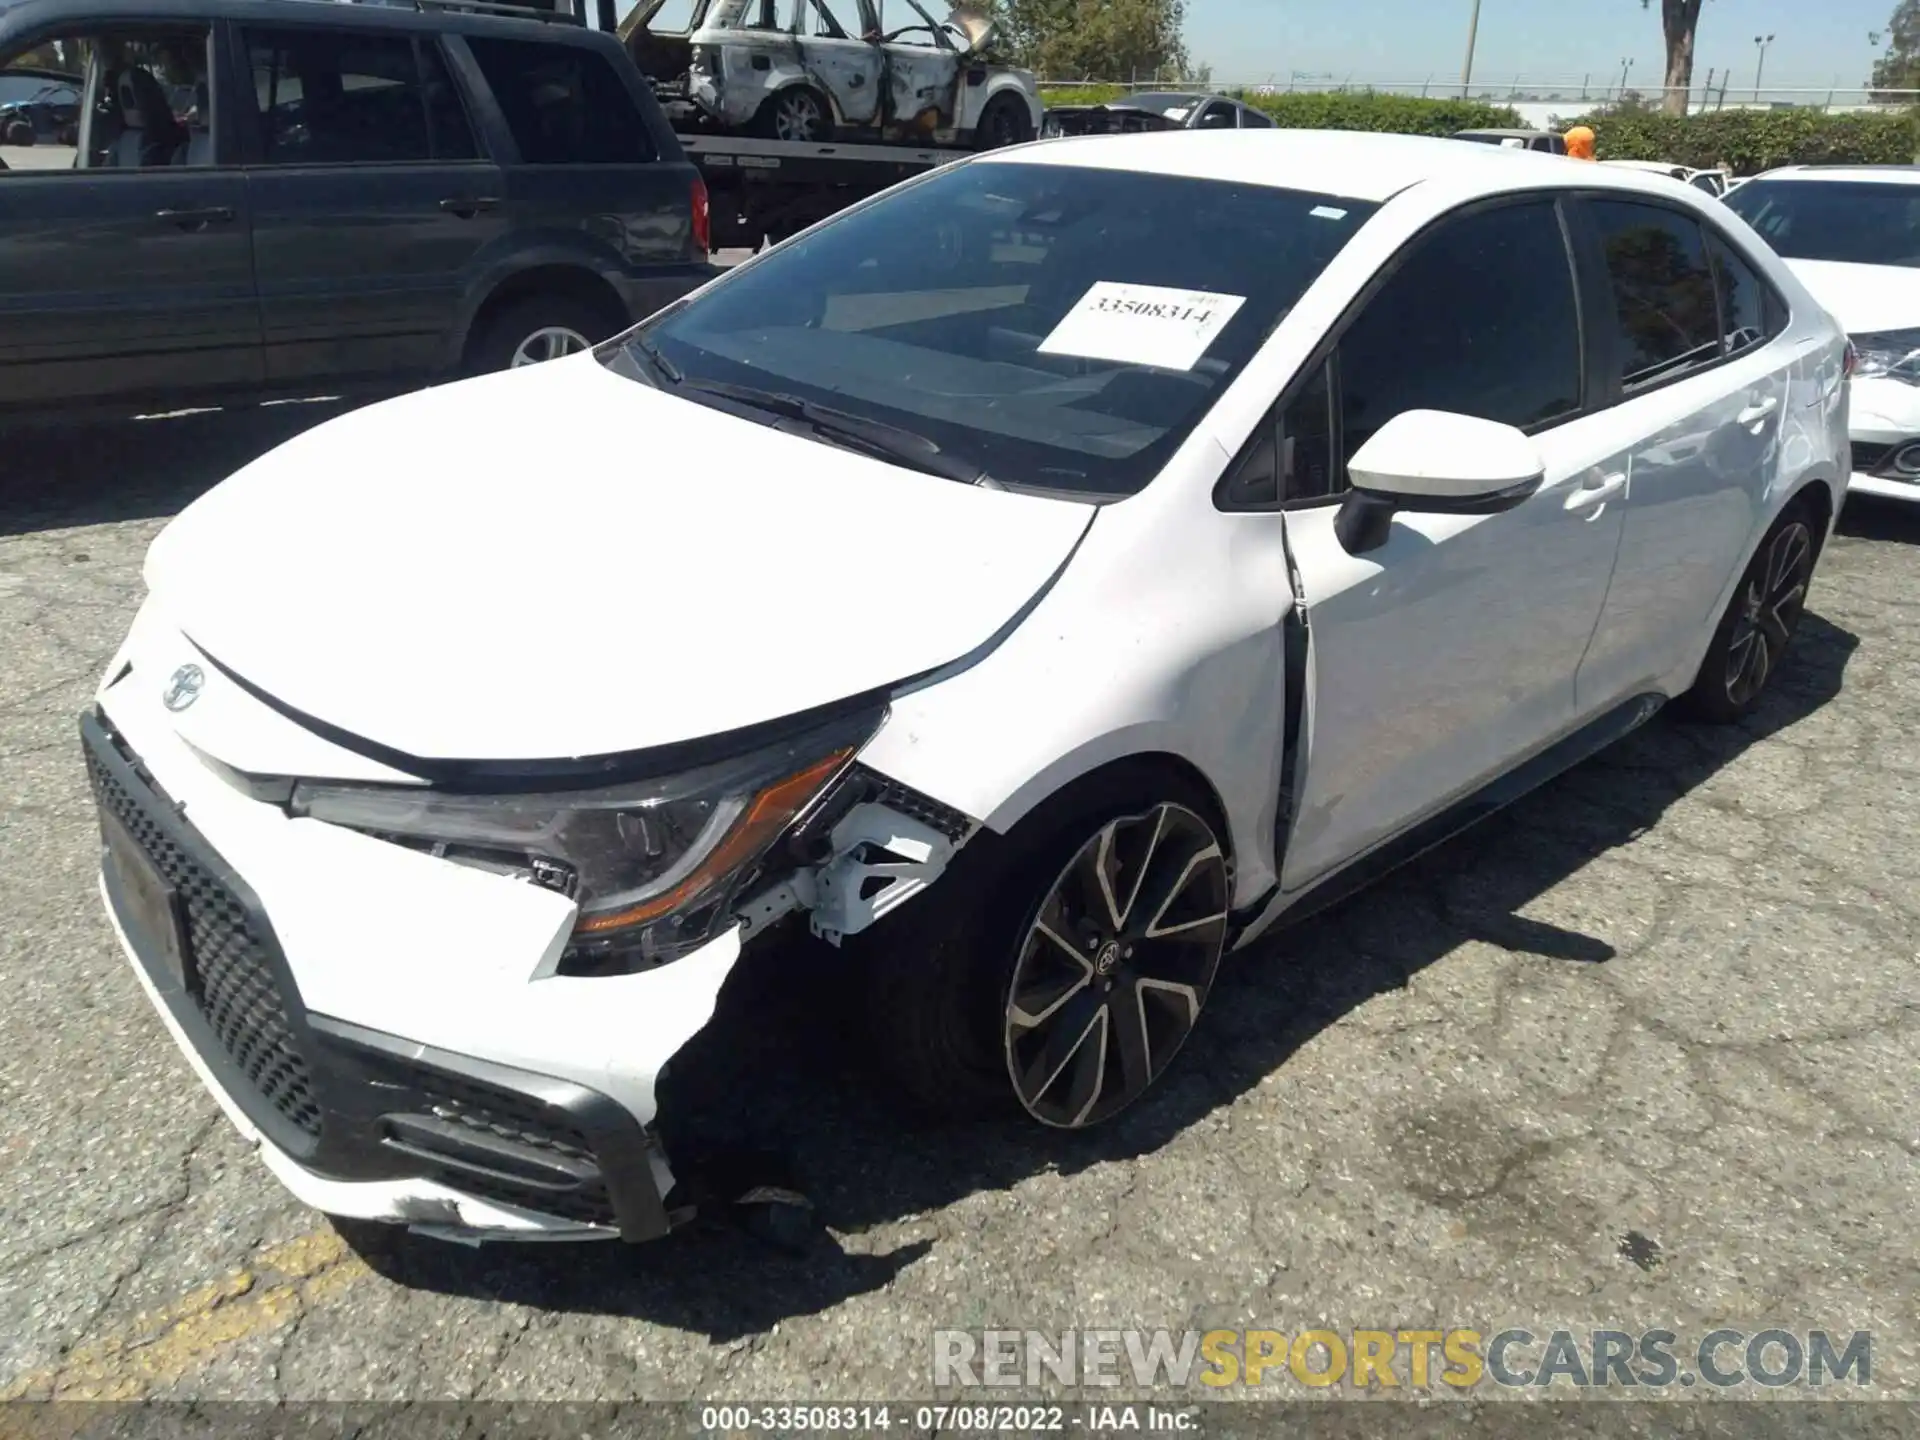
[[(420, 939), (396, 920), (426, 902), (405, 887), (424, 856), (382, 845), (399, 881), (384, 893), (355, 883), (365, 872), (313, 885), (309, 870), (309, 889), (336, 914), (323, 937), (315, 912), (286, 889), (284, 864), (259, 864), (255, 887), (227, 858), (265, 860), (259, 839), (275, 829), (286, 839), (303, 822), (275, 828), (257, 816), (250, 833), (232, 824), (238, 806), (273, 806), (219, 795), (227, 783), (196, 756), (169, 753), (156, 728), (142, 735), (161, 756), (150, 762), (127, 733), (138, 726), (115, 720), (106, 708), (81, 720), (108, 916), (175, 1043), (288, 1190), (332, 1215), (449, 1238), (651, 1240), (691, 1213), (668, 1208), (676, 1185), (651, 1129), (653, 1089), (710, 1020), (739, 956), (737, 927), (655, 972), (532, 979), (541, 948), (524, 947), (524, 927), (507, 925), (509, 948), (490, 954), (455, 908), (442, 912), (442, 945), (465, 964), (465, 981), (445, 985), (445, 972), (432, 975), (432, 956), (420, 956), (415, 972), (444, 985), (424, 995), (390, 950), (396, 933), (401, 948)], [(543, 899), (505, 889), (509, 906)], [(288, 900), (278, 912), (286, 935), (263, 899), (273, 895)], [(313, 941), (328, 950), (315, 956)], [(342, 968), (326, 958), (372, 958), (390, 975), (357, 1006), (338, 1004), (336, 987), (332, 1010), (399, 1023), (376, 1027), (311, 1004), (311, 993), (326, 993), (311, 981)], [(607, 1054), (609, 1037), (622, 1033), (620, 1052)]]

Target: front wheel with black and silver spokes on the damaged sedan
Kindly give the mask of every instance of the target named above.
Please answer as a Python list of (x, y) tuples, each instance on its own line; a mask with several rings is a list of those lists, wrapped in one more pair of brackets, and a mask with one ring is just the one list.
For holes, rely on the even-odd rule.
[[(1102, 858), (1127, 897), (1117, 927), (1092, 908), (1106, 904)], [(1002, 841), (975, 837), (868, 945), (879, 1062), (929, 1117), (1112, 1119), (1200, 1018), (1227, 939), (1227, 876), (1212, 797), (1171, 776), (1094, 781)]]

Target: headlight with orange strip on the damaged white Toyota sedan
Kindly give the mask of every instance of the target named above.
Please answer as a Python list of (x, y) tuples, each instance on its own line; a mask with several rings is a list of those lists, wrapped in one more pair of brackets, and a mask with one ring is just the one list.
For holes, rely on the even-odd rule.
[(580, 906), (568, 968), (672, 960), (726, 922), (739, 881), (879, 728), (862, 712), (747, 755), (595, 789), (463, 793), (301, 781), (288, 810), (516, 874)]

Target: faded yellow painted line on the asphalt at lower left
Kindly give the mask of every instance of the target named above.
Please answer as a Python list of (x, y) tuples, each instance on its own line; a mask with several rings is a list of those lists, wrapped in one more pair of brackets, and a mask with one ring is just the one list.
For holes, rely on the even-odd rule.
[(144, 1400), (167, 1390), (227, 1346), (271, 1334), (309, 1306), (371, 1271), (334, 1231), (311, 1231), (261, 1250), (255, 1263), (134, 1315), (113, 1334), (67, 1352), (58, 1365), (0, 1384), (4, 1400)]

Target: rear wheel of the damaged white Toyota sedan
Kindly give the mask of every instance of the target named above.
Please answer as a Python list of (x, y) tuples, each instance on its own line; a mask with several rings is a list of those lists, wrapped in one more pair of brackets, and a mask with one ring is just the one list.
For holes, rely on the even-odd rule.
[(1682, 697), (1686, 714), (1711, 724), (1732, 724), (1753, 712), (1799, 628), (1818, 555), (1818, 516), (1812, 507), (1788, 507), (1740, 576), (1726, 614), (1707, 645), (1699, 676)]

